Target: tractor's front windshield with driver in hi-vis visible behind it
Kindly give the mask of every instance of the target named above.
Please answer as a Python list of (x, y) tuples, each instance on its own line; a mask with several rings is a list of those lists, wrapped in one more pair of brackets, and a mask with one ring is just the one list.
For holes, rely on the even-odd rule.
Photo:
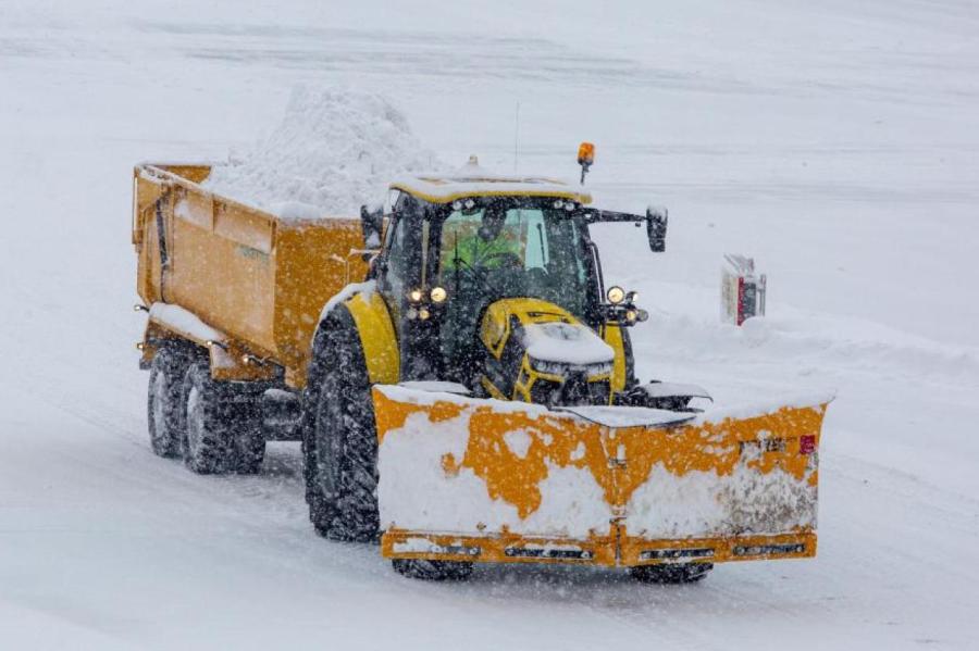
[(464, 354), (482, 311), (503, 298), (546, 300), (585, 321), (594, 289), (582, 222), (553, 202), (506, 199), (445, 217), (437, 284), (450, 296), (443, 324), (448, 359)]

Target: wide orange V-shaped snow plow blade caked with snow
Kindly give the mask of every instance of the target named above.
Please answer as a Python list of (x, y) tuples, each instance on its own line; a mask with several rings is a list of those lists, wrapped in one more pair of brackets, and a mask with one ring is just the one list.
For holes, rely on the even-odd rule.
[(814, 556), (830, 400), (550, 411), (375, 386), (382, 553), (606, 566)]

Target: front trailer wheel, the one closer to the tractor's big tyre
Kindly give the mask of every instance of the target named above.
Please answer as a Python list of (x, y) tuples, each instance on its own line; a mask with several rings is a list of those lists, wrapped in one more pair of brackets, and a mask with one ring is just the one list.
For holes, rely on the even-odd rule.
[(261, 470), (265, 443), (257, 399), (247, 389), (211, 379), (208, 363), (190, 364), (184, 379), (184, 463), (201, 475)]

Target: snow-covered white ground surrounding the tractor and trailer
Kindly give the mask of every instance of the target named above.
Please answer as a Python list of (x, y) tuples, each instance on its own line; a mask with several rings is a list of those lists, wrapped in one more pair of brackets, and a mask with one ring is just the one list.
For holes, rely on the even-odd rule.
[[(979, 5), (525, 4), (0, 3), (0, 648), (979, 646)], [(453, 164), (573, 176), (588, 139), (599, 203), (669, 205), (665, 254), (602, 234), (640, 374), (838, 391), (819, 556), (422, 584), (312, 533), (295, 445), (248, 478), (153, 456), (132, 165), (225, 160), (298, 84), (383, 95)], [(770, 277), (742, 330), (723, 252)]]

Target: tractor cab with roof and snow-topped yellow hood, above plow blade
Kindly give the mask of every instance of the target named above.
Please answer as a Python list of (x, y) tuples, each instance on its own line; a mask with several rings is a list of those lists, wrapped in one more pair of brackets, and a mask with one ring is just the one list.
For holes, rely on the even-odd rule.
[(402, 379), (604, 404), (634, 383), (620, 326), (642, 313), (627, 313), (619, 288), (608, 297), (617, 301), (605, 296), (588, 235), (603, 213), (586, 192), (474, 163), (391, 187), (387, 215), (364, 211), (364, 237), (381, 241), (387, 217), (372, 273), (396, 323)]

